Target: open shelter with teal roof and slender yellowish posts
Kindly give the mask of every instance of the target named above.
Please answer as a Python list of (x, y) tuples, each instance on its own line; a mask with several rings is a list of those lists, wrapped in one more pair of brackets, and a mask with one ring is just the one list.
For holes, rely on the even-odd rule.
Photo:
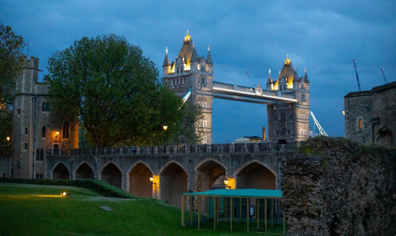
[[(185, 198), (187, 204), (185, 205)], [(182, 194), (182, 216), (181, 224), (186, 226), (188, 220), (190, 225), (193, 223), (193, 211), (197, 211), (198, 229), (201, 226), (201, 214), (206, 215), (209, 221), (210, 215), (213, 215), (213, 229), (216, 229), (216, 224), (219, 224), (219, 218), (223, 217), (225, 223), (229, 218), (230, 230), (232, 231), (232, 223), (239, 215), (239, 221), (246, 222), (247, 231), (249, 232), (249, 221), (257, 221), (257, 230), (261, 218), (264, 215), (265, 233), (267, 233), (267, 215), (270, 212), (271, 225), (277, 218), (277, 223), (280, 223), (280, 200), (282, 199), (282, 192), (280, 190), (266, 190), (266, 189), (216, 189), (197, 193), (183, 193)], [(275, 200), (275, 204), (274, 204)], [(250, 202), (250, 203), (249, 203)], [(212, 205), (209, 207), (209, 205)], [(189, 216), (185, 221), (184, 211), (185, 207), (189, 209)], [(239, 209), (238, 209), (239, 208)], [(275, 208), (275, 209), (274, 209)], [(275, 210), (275, 211), (274, 211)], [(204, 211), (204, 213), (202, 213)], [(213, 213), (213, 214), (211, 214)], [(227, 217), (228, 215), (228, 217)], [(245, 216), (243, 216), (245, 215)], [(244, 219), (242, 219), (242, 216)], [(250, 219), (252, 218), (252, 219)], [(283, 218), (283, 234), (285, 234), (285, 219)]]

